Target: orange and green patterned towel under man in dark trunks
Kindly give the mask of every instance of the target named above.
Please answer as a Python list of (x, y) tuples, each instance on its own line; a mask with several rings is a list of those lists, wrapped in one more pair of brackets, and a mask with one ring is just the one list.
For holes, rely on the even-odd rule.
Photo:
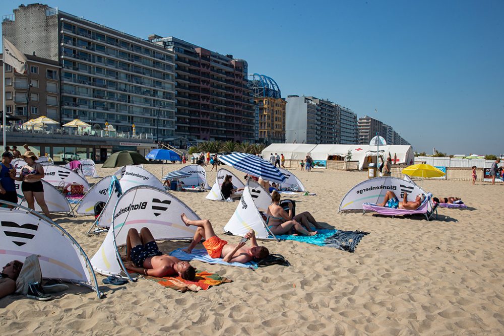
[(205, 271), (202, 272), (198, 270), (196, 270), (195, 281), (184, 280), (180, 276), (165, 277), (165, 278), (146, 276), (144, 278), (150, 281), (157, 282), (161, 286), (171, 288), (182, 293), (185, 293), (187, 291), (192, 292), (198, 292), (201, 290), (206, 291), (212, 286), (219, 286), (220, 284), (233, 282), (232, 280), (225, 277), (221, 277), (216, 273), (208, 273)]

